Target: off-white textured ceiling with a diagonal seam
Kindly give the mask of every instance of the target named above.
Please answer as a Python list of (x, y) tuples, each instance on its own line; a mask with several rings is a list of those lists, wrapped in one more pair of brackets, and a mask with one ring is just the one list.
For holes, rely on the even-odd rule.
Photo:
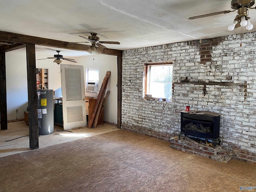
[[(241, 33), (228, 31), (236, 12), (188, 20), (230, 8), (231, 0), (0, 0), (0, 30), (67, 42), (88, 32), (108, 48), (127, 50)], [(256, 10), (249, 12), (256, 30)], [(246, 32), (246, 29), (243, 29)], [(88, 44), (88, 43), (87, 43)], [(90, 44), (88, 44), (90, 45)], [(40, 50), (41, 49), (41, 50)], [(51, 55), (55, 54), (54, 48)], [(37, 47), (38, 54), (45, 48)], [(68, 54), (68, 52), (67, 52)], [(76, 52), (72, 52), (76, 55)], [(78, 55), (81, 54), (78, 52)], [(69, 55), (68, 55), (69, 56)]]

